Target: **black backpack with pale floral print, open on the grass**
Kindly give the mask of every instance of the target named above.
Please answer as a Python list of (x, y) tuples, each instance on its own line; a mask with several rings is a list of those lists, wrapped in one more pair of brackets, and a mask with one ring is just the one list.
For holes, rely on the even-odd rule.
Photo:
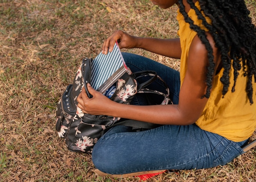
[[(77, 106), (76, 101), (83, 87), (87, 90), (86, 83), (90, 83), (92, 59), (85, 58), (79, 67), (73, 84), (67, 86), (62, 94), (56, 108), (56, 130), (58, 136), (65, 139), (67, 148), (70, 151), (92, 152), (92, 148), (102, 134), (108, 128), (115, 125), (132, 126), (136, 129), (150, 129), (156, 127), (151, 123), (139, 121), (122, 121), (121, 118), (103, 115), (85, 114)], [(143, 83), (138, 83), (138, 79), (148, 77)], [(146, 86), (159, 79), (166, 86), (166, 83), (157, 76), (154, 71), (126, 72), (118, 81), (109, 88), (104, 94), (112, 101), (124, 104), (130, 104), (135, 94), (154, 93), (163, 96), (162, 103), (171, 103), (169, 99), (169, 89), (166, 86), (166, 93), (153, 91)], [(87, 92), (88, 96), (89, 92)]]

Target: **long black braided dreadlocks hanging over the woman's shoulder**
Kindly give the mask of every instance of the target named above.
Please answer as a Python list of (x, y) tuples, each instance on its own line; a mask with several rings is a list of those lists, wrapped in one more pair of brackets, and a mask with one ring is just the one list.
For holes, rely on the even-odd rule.
[[(198, 33), (198, 37), (208, 51), (209, 66), (207, 68), (206, 83), (207, 92), (204, 97), (209, 98), (212, 87), (215, 63), (213, 61), (213, 49), (209, 44), (206, 33), (199, 26), (193, 23), (184, 9), (182, 0), (178, 0), (180, 12), (184, 16), (191, 29)], [(234, 85), (232, 92), (235, 91), (238, 71), (243, 68), (244, 77), (247, 77), (246, 92), (250, 103), (253, 103), (252, 77), (256, 81), (256, 26), (252, 24), (249, 17), (249, 10), (244, 0), (198, 0), (204, 15), (209, 17), (211, 24), (207, 23), (202, 11), (195, 7), (193, 0), (187, 0), (191, 9), (194, 9), (198, 19), (209, 30), (220, 50), (221, 62), (224, 68), (220, 81), (223, 84), (222, 95), (224, 96), (229, 88), (229, 72), (231, 66), (234, 68)], [(233, 60), (233, 61), (231, 61)]]

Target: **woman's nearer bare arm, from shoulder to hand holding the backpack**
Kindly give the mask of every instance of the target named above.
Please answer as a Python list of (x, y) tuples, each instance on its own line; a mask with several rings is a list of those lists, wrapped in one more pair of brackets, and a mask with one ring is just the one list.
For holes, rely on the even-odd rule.
[[(214, 46), (211, 35), (208, 35), (207, 38), (213, 47), (213, 55), (217, 67), (220, 60), (218, 50)], [(168, 48), (168, 50), (171, 50), (171, 48)], [(83, 112), (89, 114), (103, 114), (157, 124), (190, 125), (198, 120), (208, 100), (206, 98), (201, 99), (206, 91), (205, 75), (207, 65), (207, 50), (199, 37), (196, 36), (189, 50), (188, 68), (180, 89), (178, 105), (138, 106), (120, 104), (111, 101), (89, 86), (88, 89), (93, 98), (89, 99), (83, 89), (77, 99), (78, 106)]]

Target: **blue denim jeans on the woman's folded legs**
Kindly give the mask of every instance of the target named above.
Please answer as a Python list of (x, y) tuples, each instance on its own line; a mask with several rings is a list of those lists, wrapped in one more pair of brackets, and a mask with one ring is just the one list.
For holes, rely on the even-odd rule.
[[(127, 66), (136, 72), (155, 70), (178, 103), (179, 72), (153, 60), (123, 53)], [(159, 89), (160, 83), (155, 83)], [(204, 169), (225, 165), (243, 153), (243, 142), (233, 142), (206, 132), (197, 125), (163, 125), (141, 132), (116, 126), (104, 134), (92, 151), (95, 167), (105, 173), (125, 174), (149, 170)]]

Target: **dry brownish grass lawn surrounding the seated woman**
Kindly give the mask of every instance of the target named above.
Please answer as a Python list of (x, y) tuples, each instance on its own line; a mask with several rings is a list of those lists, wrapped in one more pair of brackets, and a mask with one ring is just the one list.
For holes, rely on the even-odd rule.
[[(255, 23), (255, 0), (247, 4)], [(149, 0), (0, 0), (0, 181), (112, 181), (94, 174), (90, 155), (68, 151), (58, 138), (56, 103), (81, 59), (95, 57), (113, 31), (176, 37), (176, 10)], [(178, 60), (126, 51), (179, 70)], [(223, 167), (172, 171), (148, 181), (255, 182), (255, 161), (253, 149)]]

